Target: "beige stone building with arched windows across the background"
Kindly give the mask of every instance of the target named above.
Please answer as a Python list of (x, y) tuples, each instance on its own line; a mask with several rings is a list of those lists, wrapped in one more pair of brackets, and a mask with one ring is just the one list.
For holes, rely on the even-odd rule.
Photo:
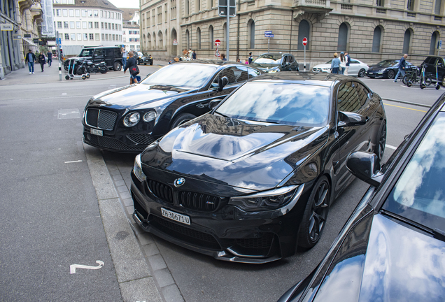
[[(145, 1), (145, 0), (141, 0)], [(146, 1), (141, 3), (141, 14), (151, 18), (164, 32), (178, 32), (178, 48), (192, 48), (199, 58), (215, 58), (214, 41), (222, 42), (225, 52), (226, 18), (218, 16), (218, 0)], [(444, 0), (238, 0), (236, 17), (229, 20), (229, 59), (245, 59), (267, 52), (268, 38), (264, 31), (272, 31), (270, 52), (290, 52), (298, 62), (304, 59), (302, 38), (308, 38), (306, 62), (309, 66), (325, 62), (334, 52), (348, 50), (351, 57), (368, 64), (381, 59), (399, 59), (408, 53), (416, 64), (425, 56), (439, 52), (444, 21)], [(162, 13), (171, 14), (176, 8), (176, 22), (153, 21)], [(164, 6), (166, 8), (164, 9)], [(148, 13), (150, 11), (150, 13)], [(162, 24), (161, 24), (162, 23)], [(148, 30), (141, 24), (141, 31)], [(143, 27), (143, 28), (142, 28)], [(162, 28), (162, 29), (161, 29)], [(145, 41), (145, 42), (144, 42)], [(144, 50), (155, 57), (178, 55), (171, 52), (171, 40), (164, 41), (162, 52), (153, 42), (153, 34), (141, 39)], [(144, 46), (145, 43), (145, 46)]]

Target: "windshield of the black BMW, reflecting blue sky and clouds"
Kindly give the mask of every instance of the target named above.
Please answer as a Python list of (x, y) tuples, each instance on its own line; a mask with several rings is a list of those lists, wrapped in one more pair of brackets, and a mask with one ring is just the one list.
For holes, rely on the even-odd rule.
[(216, 113), (239, 120), (324, 126), (330, 88), (285, 82), (247, 82)]

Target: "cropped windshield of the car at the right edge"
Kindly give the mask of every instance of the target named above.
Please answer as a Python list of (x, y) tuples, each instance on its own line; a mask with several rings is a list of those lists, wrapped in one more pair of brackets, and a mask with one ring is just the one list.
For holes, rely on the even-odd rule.
[(445, 229), (445, 113), (441, 112), (404, 168), (383, 209)]

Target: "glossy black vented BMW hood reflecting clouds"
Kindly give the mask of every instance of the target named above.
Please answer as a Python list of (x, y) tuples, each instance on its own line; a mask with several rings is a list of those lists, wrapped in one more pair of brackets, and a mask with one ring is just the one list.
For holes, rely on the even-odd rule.
[(148, 146), (153, 168), (246, 189), (269, 189), (327, 141), (327, 127), (295, 127), (206, 114)]

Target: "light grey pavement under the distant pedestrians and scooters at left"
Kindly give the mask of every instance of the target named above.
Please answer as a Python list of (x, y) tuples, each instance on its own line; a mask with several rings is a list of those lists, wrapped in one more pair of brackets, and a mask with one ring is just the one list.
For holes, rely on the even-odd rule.
[[(154, 61), (153, 66), (151, 67), (162, 67), (169, 64), (165, 61)], [(150, 67), (150, 65), (139, 65), (139, 69), (141, 70), (141, 73), (144, 74), (143, 69), (146, 67)], [(19, 69), (17, 71), (13, 71), (11, 73), (8, 73), (5, 75), (5, 78), (3, 80), (0, 80), (0, 86), (3, 85), (27, 85), (27, 84), (42, 84), (42, 83), (56, 83), (56, 82), (66, 82), (69, 80), (65, 79), (66, 71), (64, 70), (63, 64), (61, 64), (61, 71), (62, 71), (62, 80), (60, 80), (59, 76), (59, 61), (57, 59), (52, 60), (51, 66), (48, 66), (48, 64), (45, 64), (43, 66), (43, 72), (41, 71), (40, 64), (35, 63), (34, 64), (34, 74), (29, 74), (28, 65), (26, 64), (24, 69)], [(87, 81), (91, 80), (104, 80), (104, 79), (110, 79), (110, 78), (125, 78), (129, 77), (129, 73), (125, 73), (121, 71), (113, 71), (112, 69), (108, 70), (107, 73), (91, 73), (90, 78), (86, 79)], [(82, 81), (81, 78), (75, 78), (71, 81)]]

